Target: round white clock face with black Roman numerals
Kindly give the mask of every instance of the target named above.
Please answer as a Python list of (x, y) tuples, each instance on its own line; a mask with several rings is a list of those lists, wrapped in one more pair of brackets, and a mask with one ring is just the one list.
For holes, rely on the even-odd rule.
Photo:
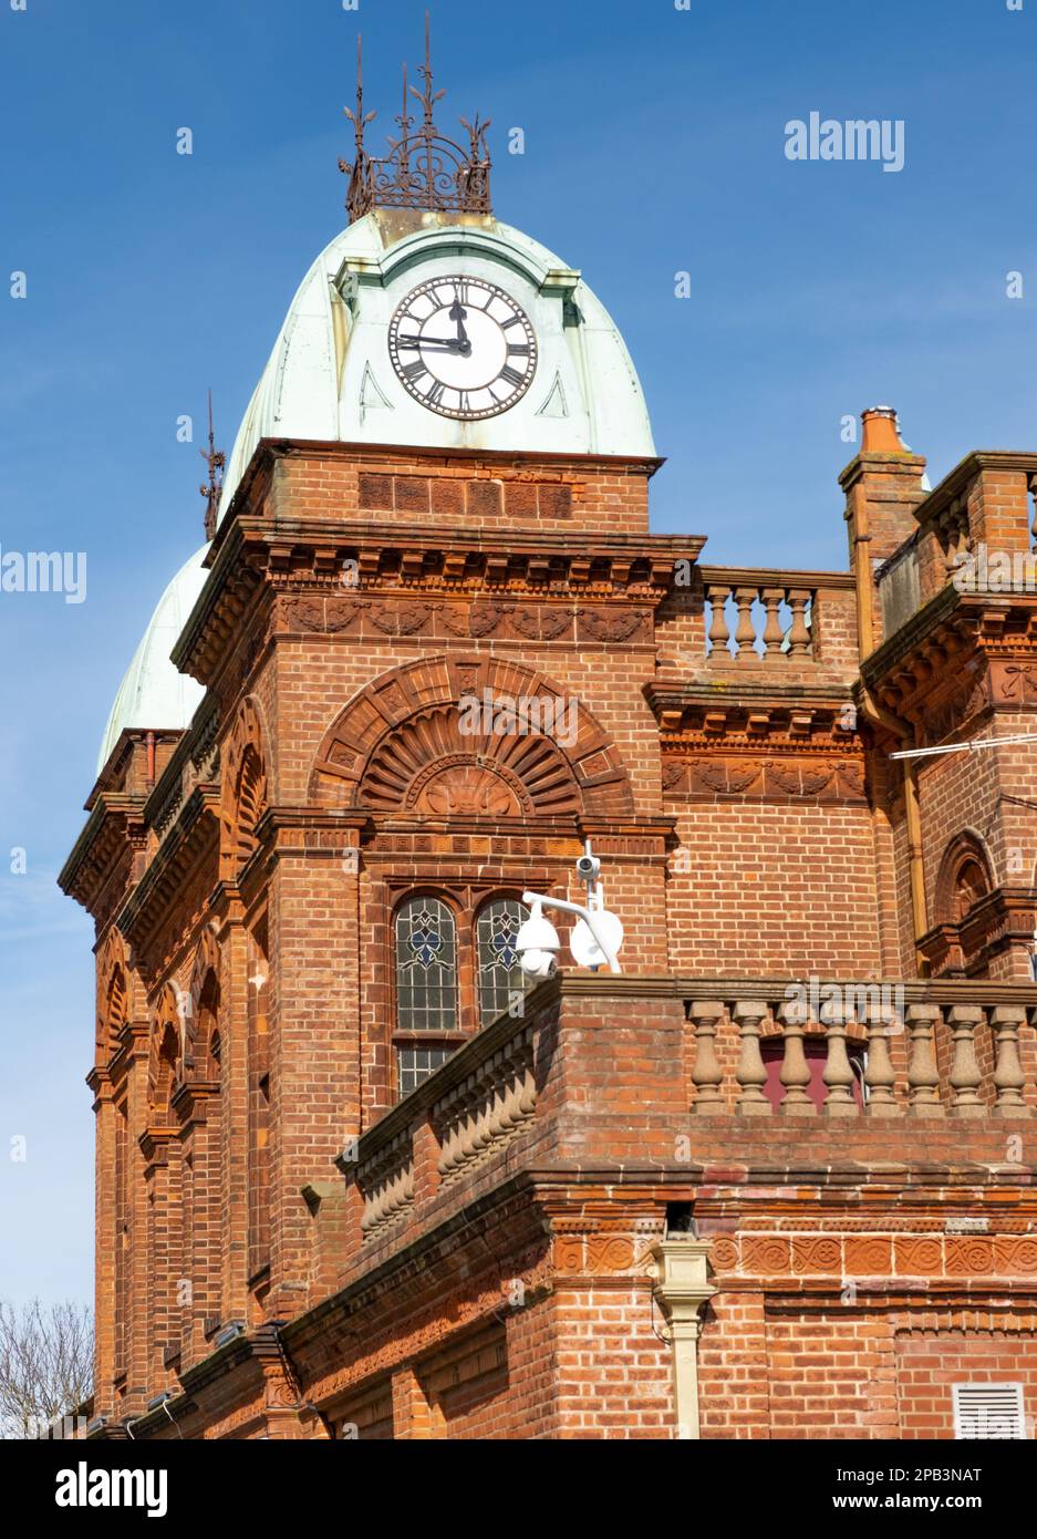
[(508, 411), (537, 372), (529, 317), (483, 279), (431, 279), (408, 294), (389, 325), (389, 354), (415, 400), (465, 422)]

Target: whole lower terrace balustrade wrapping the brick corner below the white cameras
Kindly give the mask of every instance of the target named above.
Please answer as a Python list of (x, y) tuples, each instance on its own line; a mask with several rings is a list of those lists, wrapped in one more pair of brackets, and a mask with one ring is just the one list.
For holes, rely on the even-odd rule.
[(683, 1191), (695, 1160), (788, 1160), (795, 1119), (795, 1157), (823, 1168), (851, 1127), (854, 1159), (946, 1157), (954, 1119), (997, 1160), (1037, 1108), (1037, 985), (566, 973), (523, 1008), (338, 1156), (337, 1197), (309, 1188), (329, 1288), (532, 1174), (637, 1168)]

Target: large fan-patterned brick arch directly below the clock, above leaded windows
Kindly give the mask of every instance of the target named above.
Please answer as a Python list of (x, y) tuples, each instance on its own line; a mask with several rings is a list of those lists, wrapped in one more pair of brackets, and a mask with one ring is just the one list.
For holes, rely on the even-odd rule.
[[(462, 729), (465, 700), (532, 700), (540, 722), (554, 711), (566, 729), (494, 733), (489, 713), (475, 729), (468, 713)], [(382, 674), (326, 733), (309, 799), (437, 816), (615, 817), (634, 810), (626, 771), (586, 706), (502, 657), (429, 657)]]

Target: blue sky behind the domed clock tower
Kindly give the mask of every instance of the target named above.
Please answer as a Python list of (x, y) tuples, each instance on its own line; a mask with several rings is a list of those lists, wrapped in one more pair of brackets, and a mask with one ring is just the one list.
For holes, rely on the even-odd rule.
[[(626, 334), (668, 457), (657, 531), (708, 534), (712, 562), (845, 566), (840, 423), (877, 402), (934, 483), (971, 448), (1034, 446), (1037, 0), (432, 9), (443, 119), (494, 119), (497, 212)], [(345, 219), (357, 29), (380, 134), (422, 14), (0, 0), (0, 546), (88, 554), (82, 605), (0, 593), (0, 1296), (91, 1293), (92, 931), (54, 876), (123, 668), (202, 540), (177, 419), (200, 428), (211, 385), (231, 448)], [(786, 160), (811, 111), (903, 119), (905, 169)]]

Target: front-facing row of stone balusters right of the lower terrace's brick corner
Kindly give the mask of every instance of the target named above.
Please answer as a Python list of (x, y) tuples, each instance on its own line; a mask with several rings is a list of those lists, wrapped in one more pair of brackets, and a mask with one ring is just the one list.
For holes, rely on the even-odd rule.
[[(822, 985), (814, 1010), (806, 990), (788, 985), (757, 997), (692, 999), (692, 1114), (1031, 1117), (1020, 1028), (1037, 1005), (960, 997), (977, 988)], [(888, 1003), (894, 990), (900, 1008)]]

